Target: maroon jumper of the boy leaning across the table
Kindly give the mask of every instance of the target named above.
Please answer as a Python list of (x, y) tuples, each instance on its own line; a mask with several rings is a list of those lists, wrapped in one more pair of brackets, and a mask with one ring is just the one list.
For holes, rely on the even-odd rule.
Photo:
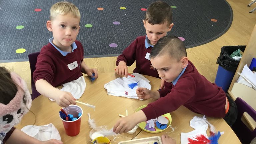
[(175, 111), (181, 105), (208, 117), (225, 117), (225, 92), (199, 74), (190, 61), (175, 86), (167, 82), (164, 86), (159, 91), (160, 98), (142, 109), (147, 120)]

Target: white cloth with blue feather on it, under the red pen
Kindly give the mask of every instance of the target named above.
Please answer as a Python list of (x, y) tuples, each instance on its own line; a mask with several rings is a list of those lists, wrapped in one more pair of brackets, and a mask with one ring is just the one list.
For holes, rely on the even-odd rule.
[[(108, 95), (113, 96), (122, 96), (127, 98), (138, 99), (136, 94), (136, 89), (138, 87), (143, 87), (151, 90), (151, 85), (149, 84), (149, 80), (144, 76), (138, 73), (133, 73), (135, 77), (128, 76), (117, 78), (115, 80), (110, 81), (104, 85), (104, 88), (107, 90)], [(140, 82), (138, 82), (140, 81)], [(137, 83), (138, 85), (131, 89), (128, 84)], [(141, 99), (143, 100), (143, 99)]]

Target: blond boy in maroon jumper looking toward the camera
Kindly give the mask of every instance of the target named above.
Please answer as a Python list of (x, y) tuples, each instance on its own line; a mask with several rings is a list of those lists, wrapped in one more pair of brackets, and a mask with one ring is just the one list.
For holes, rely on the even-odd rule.
[(76, 104), (71, 93), (61, 91), (56, 86), (73, 81), (83, 73), (95, 78), (96, 69), (90, 69), (83, 61), (84, 49), (76, 40), (80, 26), (80, 12), (69, 2), (57, 2), (51, 7), (50, 20), (46, 26), (53, 33), (53, 38), (40, 51), (36, 70), (33, 73), (37, 91), (54, 99), (61, 107)]

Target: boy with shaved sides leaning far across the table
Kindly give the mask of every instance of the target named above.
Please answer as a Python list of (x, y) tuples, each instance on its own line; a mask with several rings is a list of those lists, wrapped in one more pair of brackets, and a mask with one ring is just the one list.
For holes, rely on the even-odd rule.
[(188, 60), (184, 43), (175, 36), (161, 38), (151, 51), (150, 61), (159, 77), (165, 81), (164, 89), (151, 91), (136, 89), (139, 99), (156, 99), (147, 107), (121, 118), (114, 126), (116, 133), (127, 132), (136, 124), (175, 111), (181, 105), (209, 117), (223, 118), (230, 126), (236, 121), (235, 102), (222, 88), (199, 74)]

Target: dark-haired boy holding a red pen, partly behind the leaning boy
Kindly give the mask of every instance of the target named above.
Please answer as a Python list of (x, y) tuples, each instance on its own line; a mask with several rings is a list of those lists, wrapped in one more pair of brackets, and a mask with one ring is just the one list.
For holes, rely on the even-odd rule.
[(152, 3), (146, 12), (143, 20), (146, 29), (146, 36), (137, 37), (124, 51), (118, 56), (116, 61), (116, 73), (128, 76), (127, 66), (131, 66), (136, 61), (135, 73), (157, 77), (158, 73), (150, 63), (149, 55), (156, 42), (167, 34), (173, 27), (172, 9), (163, 1)]

